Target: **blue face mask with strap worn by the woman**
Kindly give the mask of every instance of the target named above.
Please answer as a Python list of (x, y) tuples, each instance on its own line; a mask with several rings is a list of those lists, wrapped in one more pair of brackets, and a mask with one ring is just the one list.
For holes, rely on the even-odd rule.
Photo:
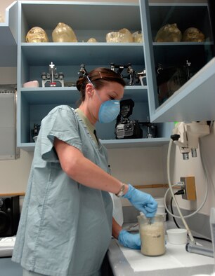
[[(89, 82), (91, 83), (89, 77), (87, 76)], [(91, 85), (93, 85), (93, 83), (91, 83)], [(94, 90), (95, 86), (93, 85)], [(100, 98), (100, 96), (98, 95), (98, 92), (96, 91), (96, 95), (98, 96), (98, 98), (100, 99), (100, 102), (102, 102), (102, 104), (100, 105), (100, 109), (98, 111), (98, 121), (99, 123), (110, 123), (113, 120), (115, 120), (115, 118), (117, 118), (117, 116), (119, 115), (119, 111), (120, 111), (120, 102), (118, 99), (110, 99), (108, 101), (103, 102)]]

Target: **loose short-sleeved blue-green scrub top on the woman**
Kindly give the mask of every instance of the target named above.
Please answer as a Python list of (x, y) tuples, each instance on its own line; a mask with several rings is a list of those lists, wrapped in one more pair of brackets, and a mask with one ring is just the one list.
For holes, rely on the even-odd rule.
[(104, 146), (96, 144), (74, 109), (57, 106), (48, 113), (35, 145), (12, 260), (44, 275), (93, 275), (110, 244), (112, 200), (63, 172), (55, 137), (108, 171)]

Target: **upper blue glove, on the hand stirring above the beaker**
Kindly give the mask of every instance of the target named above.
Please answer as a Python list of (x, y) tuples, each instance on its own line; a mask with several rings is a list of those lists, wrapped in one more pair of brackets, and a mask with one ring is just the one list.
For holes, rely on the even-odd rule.
[(152, 195), (138, 191), (131, 184), (129, 184), (129, 190), (123, 195), (123, 198), (127, 198), (136, 209), (143, 212), (148, 218), (152, 218), (157, 212), (157, 202), (152, 198)]

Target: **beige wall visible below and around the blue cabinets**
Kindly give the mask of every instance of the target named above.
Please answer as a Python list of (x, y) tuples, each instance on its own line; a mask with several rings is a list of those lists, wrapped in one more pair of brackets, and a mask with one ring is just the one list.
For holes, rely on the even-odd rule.
[[(1, 0), (0, 13), (4, 15), (5, 8), (12, 2), (13, 1), (11, 0)], [(138, 3), (136, 0), (127, 0), (124, 2)], [(0, 68), (0, 83), (16, 83), (15, 74), (15, 68)], [(204, 163), (207, 167), (209, 178), (209, 195), (207, 197), (207, 202), (200, 211), (202, 214), (209, 214), (210, 208), (215, 207), (214, 141), (215, 127), (213, 126), (211, 129), (211, 134), (202, 138), (202, 153), (204, 155)], [(167, 148), (168, 146), (146, 149), (111, 149), (109, 150), (109, 158), (112, 168), (112, 175), (121, 179), (122, 181), (128, 181), (134, 185), (167, 183)], [(204, 171), (202, 170), (202, 164), (200, 162), (199, 151), (197, 151), (197, 155), (197, 158), (182, 160), (182, 156), (181, 153), (179, 153), (178, 147), (176, 148), (176, 146), (173, 146), (171, 151), (172, 183), (175, 184), (178, 182), (180, 177), (195, 177), (197, 187), (197, 202), (190, 204), (190, 202), (181, 200), (181, 196), (179, 196), (179, 205), (184, 209), (196, 209), (196, 207), (200, 206), (202, 198), (204, 197), (206, 181), (204, 178)], [(0, 193), (25, 191), (32, 157), (33, 153), (26, 153), (25, 151), (21, 151), (20, 159), (18, 160), (0, 161)], [(163, 188), (148, 189), (144, 191), (152, 193), (154, 196), (164, 195)], [(126, 201), (123, 203), (124, 205), (127, 205)]]

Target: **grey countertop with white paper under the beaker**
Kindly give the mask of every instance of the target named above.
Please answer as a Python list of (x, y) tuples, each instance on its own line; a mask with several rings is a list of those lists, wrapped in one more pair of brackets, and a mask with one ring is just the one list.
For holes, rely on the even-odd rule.
[[(150, 257), (141, 254), (141, 250), (122, 247), (117, 240), (112, 239), (108, 251), (112, 272), (115, 276), (215, 276), (214, 258), (189, 253), (185, 250), (185, 244), (169, 244), (167, 237), (166, 240), (166, 253)], [(197, 242), (211, 247), (209, 242)]]

